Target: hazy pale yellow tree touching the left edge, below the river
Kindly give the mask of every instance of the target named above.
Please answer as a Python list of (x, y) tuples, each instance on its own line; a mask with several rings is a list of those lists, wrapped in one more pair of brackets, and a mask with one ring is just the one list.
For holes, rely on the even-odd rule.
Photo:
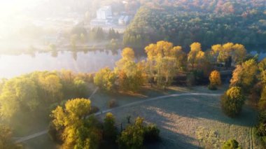
[(18, 112), (34, 112), (40, 104), (35, 83), (26, 77), (8, 80), (0, 95), (2, 118), (12, 118)]

